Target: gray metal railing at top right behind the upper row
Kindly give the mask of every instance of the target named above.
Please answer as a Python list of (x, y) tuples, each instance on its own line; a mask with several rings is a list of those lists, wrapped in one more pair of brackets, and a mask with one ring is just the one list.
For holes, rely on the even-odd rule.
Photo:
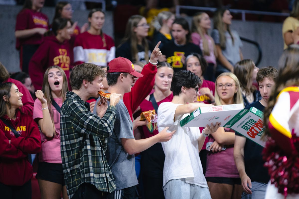
[[(215, 12), (217, 8), (215, 7), (196, 7), (196, 6), (176, 6), (176, 16), (180, 15), (180, 9), (188, 10), (205, 10)], [(246, 21), (245, 14), (255, 14), (255, 15), (271, 15), (271, 16), (290, 16), (289, 13), (275, 13), (275, 12), (265, 12), (265, 11), (254, 11), (254, 10), (239, 10), (239, 9), (229, 9), (231, 13), (241, 13), (242, 21)]]

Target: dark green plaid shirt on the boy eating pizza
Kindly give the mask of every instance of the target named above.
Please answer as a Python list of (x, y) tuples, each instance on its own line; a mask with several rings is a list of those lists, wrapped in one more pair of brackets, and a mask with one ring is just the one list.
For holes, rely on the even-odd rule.
[(101, 119), (89, 104), (68, 91), (61, 107), (61, 158), (68, 197), (80, 184), (91, 183), (102, 192), (116, 189), (105, 157), (107, 138), (112, 134), (116, 108), (109, 106)]

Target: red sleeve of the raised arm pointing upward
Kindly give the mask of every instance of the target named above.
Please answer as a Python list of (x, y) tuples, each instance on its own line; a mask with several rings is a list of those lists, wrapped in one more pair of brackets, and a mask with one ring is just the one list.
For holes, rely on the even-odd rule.
[(155, 84), (155, 75), (157, 67), (152, 64), (146, 64), (141, 71), (143, 77), (139, 78), (132, 87), (131, 92), (123, 95), (123, 103), (126, 105), (131, 120), (133, 121), (133, 112), (138, 108), (141, 102), (150, 94)]

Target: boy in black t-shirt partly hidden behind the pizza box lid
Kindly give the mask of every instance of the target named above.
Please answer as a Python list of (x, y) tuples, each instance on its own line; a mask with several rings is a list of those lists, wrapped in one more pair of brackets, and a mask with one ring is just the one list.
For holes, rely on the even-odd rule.
[[(262, 99), (249, 104), (244, 109), (255, 107), (263, 111), (268, 106), (269, 96), (277, 78), (277, 69), (274, 67), (261, 68), (257, 72), (257, 83)], [(270, 179), (268, 170), (263, 167), (263, 147), (246, 139), (236, 132), (234, 144), (234, 159), (240, 174), (243, 187), (242, 199), (265, 198), (266, 186)]]

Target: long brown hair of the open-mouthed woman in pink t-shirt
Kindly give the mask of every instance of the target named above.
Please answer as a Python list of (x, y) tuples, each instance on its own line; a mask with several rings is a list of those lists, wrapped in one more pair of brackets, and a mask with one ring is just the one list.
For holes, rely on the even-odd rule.
[[(51, 106), (53, 96), (52, 96), (51, 87), (50, 87), (49, 81), (48, 81), (48, 72), (52, 68), (59, 69), (61, 74), (62, 74), (63, 83), (62, 83), (61, 95), (62, 95), (62, 100), (63, 101), (65, 100), (65, 93), (68, 91), (68, 81), (67, 81), (65, 72), (59, 66), (50, 66), (44, 74), (44, 80), (42, 82), (42, 92), (44, 93), (44, 98), (47, 100), (51, 120), (52, 120), (52, 123), (53, 123), (53, 126), (54, 126), (54, 120), (53, 120), (54, 115), (53, 115), (52, 106)], [(55, 128), (54, 128), (54, 135), (56, 135)]]

